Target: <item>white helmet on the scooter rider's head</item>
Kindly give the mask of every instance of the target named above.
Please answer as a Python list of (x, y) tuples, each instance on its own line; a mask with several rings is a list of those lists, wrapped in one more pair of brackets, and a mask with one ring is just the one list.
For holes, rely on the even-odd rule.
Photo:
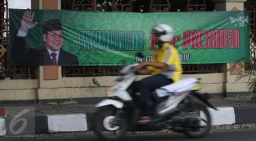
[(159, 36), (160, 41), (167, 42), (173, 38), (173, 28), (167, 24), (156, 24), (152, 28), (152, 33)]

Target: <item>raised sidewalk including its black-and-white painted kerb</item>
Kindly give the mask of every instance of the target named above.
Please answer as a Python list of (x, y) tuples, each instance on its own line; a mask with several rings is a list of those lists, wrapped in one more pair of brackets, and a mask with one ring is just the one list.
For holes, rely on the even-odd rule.
[[(256, 123), (256, 104), (250, 102), (250, 97), (212, 98), (210, 102), (218, 110), (210, 109), (212, 125), (233, 125), (241, 123)], [(1, 107), (1, 106), (0, 106)], [(75, 104), (12, 104), (4, 106), (6, 115), (0, 118), (0, 136), (20, 134), (44, 134), (53, 132), (81, 132), (93, 129), (94, 105)], [(27, 120), (27, 127), (19, 133), (10, 130), (14, 116), (26, 108), (31, 113), (23, 115)], [(16, 119), (17, 120), (17, 119)], [(30, 122), (29, 122), (30, 121)]]

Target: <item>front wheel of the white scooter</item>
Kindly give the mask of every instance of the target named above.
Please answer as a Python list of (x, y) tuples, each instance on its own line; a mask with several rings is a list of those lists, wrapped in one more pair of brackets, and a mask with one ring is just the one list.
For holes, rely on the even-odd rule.
[(102, 140), (120, 140), (126, 133), (127, 120), (124, 115), (120, 116), (118, 125), (113, 125), (115, 121), (116, 108), (104, 106), (98, 108), (95, 114), (95, 132)]

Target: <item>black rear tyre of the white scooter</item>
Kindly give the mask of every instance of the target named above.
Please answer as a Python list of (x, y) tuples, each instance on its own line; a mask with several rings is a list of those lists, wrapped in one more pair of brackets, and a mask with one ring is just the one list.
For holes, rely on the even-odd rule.
[(186, 130), (186, 132), (184, 132), (184, 134), (187, 138), (203, 138), (210, 132), (210, 129), (211, 129), (212, 119), (211, 119), (210, 112), (204, 104), (202, 104), (201, 102), (197, 102), (197, 101), (193, 102), (193, 109), (203, 111), (208, 122), (206, 123), (205, 129), (203, 129), (203, 131), (200, 132), (200, 131)]

